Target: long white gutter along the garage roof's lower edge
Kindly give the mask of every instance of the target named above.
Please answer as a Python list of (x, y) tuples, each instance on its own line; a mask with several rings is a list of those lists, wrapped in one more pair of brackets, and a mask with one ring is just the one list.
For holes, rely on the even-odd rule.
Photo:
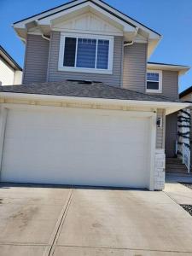
[(95, 103), (102, 105), (116, 105), (124, 107), (144, 107), (144, 108), (161, 108), (166, 109), (166, 115), (177, 112), (180, 109), (191, 106), (189, 102), (151, 102), (151, 101), (135, 101), (135, 100), (119, 100), (119, 99), (104, 99), (104, 98), (90, 98), (78, 96), (50, 96), (39, 94), (26, 93), (12, 93), (0, 92), (0, 98), (3, 99), (17, 99), (17, 100), (32, 100), (45, 102), (76, 102), (76, 103)]

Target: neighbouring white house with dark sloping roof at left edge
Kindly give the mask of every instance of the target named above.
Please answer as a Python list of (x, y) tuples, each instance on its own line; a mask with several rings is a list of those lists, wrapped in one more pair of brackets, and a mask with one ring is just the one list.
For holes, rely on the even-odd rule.
[(0, 85), (21, 84), (22, 68), (0, 45)]

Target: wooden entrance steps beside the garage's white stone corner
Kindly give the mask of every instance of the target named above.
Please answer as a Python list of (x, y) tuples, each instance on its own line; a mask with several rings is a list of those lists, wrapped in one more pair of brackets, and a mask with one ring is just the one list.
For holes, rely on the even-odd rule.
[(187, 167), (177, 158), (166, 158), (166, 173), (189, 175)]

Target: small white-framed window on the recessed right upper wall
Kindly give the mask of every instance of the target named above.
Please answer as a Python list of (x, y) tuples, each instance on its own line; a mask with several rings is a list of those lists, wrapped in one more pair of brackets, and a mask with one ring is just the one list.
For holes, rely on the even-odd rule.
[(148, 70), (147, 73), (147, 92), (162, 92), (162, 72)]

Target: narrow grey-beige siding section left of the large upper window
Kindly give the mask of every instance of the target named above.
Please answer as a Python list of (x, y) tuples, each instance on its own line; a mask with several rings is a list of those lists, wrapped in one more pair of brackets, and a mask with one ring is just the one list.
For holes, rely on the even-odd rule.
[(46, 82), (49, 41), (38, 35), (27, 35), (23, 83)]

